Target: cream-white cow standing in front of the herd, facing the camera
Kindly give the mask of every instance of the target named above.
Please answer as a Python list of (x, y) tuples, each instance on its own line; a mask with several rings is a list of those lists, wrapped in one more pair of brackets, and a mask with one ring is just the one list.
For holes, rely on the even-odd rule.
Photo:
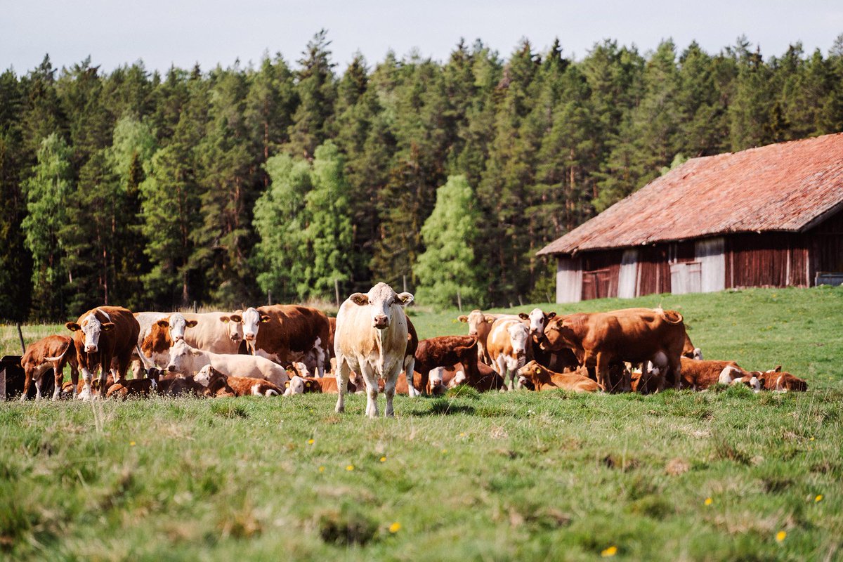
[(368, 293), (353, 293), (341, 304), (334, 335), (337, 413), (346, 409), (346, 383), (354, 371), (366, 383), (365, 415), (378, 417), (379, 377), (384, 379), (384, 413), (395, 415), (395, 381), (404, 367), (407, 349), (407, 315), (403, 308), (411, 302), (411, 293), (396, 293), (386, 283), (378, 283)]

